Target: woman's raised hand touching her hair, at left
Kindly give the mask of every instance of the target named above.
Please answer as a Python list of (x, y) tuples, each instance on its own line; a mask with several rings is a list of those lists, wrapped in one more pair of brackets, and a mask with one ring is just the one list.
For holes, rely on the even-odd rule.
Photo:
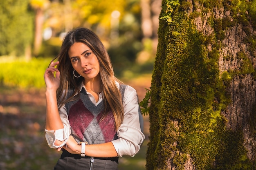
[[(60, 72), (57, 68), (55, 68), (55, 66), (58, 64), (59, 62), (52, 61), (50, 66), (45, 71), (44, 78), (47, 89), (57, 90), (57, 88), (60, 86)], [(56, 77), (54, 77), (54, 72), (56, 72)]]

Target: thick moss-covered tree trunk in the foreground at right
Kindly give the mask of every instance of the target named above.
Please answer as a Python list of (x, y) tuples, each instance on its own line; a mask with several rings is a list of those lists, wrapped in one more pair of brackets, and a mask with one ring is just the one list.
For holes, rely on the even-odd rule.
[(162, 1), (147, 170), (256, 169), (255, 4)]

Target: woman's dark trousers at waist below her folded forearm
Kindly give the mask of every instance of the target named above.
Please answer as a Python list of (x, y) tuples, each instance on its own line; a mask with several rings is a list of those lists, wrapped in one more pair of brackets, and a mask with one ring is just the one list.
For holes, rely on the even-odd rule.
[(94, 158), (71, 154), (65, 149), (54, 170), (117, 170), (118, 157)]

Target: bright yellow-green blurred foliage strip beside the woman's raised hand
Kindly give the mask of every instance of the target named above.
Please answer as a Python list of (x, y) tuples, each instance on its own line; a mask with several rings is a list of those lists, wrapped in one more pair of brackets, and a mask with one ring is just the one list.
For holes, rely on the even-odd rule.
[(22, 59), (0, 62), (0, 84), (42, 88), (45, 86), (43, 75), (50, 61), (49, 58), (34, 58), (29, 62)]

